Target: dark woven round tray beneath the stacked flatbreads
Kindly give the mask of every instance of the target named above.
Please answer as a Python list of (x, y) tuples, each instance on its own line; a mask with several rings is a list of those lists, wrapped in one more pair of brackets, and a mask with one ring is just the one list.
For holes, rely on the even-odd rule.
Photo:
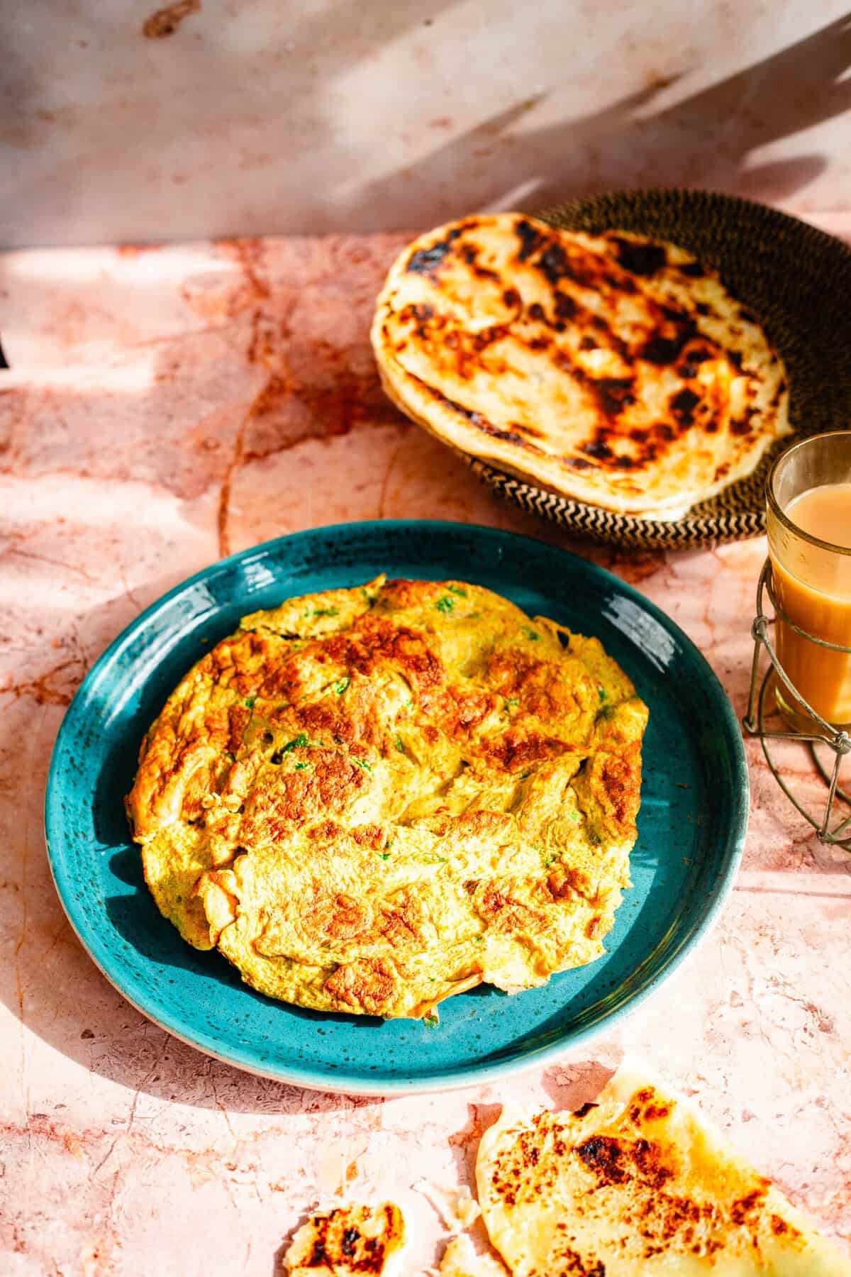
[(795, 435), (774, 444), (746, 479), (672, 522), (559, 497), (468, 457), (475, 474), (523, 510), (621, 545), (688, 547), (764, 531), (766, 475), (777, 452), (805, 434), (851, 428), (851, 248), (777, 209), (703, 190), (619, 192), (536, 216), (591, 234), (639, 231), (713, 266), (730, 292), (759, 315), (786, 364)]

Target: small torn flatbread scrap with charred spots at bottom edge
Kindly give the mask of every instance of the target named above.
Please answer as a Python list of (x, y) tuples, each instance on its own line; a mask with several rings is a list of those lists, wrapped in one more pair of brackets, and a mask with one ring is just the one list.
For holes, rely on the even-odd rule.
[(404, 1220), (398, 1205), (341, 1205), (310, 1216), (293, 1235), (290, 1277), (392, 1277), (399, 1273)]

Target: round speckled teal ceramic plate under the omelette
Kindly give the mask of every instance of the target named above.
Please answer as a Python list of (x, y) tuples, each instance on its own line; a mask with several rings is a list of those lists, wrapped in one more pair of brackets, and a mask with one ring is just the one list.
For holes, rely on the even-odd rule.
[[(246, 612), (388, 576), (457, 577), (597, 635), (649, 706), (634, 888), (607, 954), (508, 997), (477, 988), (440, 1024), (322, 1015), (241, 983), (161, 918), (130, 843), (122, 796), (142, 736), (189, 667)], [(739, 727), (706, 660), (623, 581), (541, 541), (420, 521), (283, 536), (214, 563), (143, 612), (88, 674), (47, 784), (47, 845), (68, 917), (105, 976), (176, 1037), (255, 1073), (388, 1094), (484, 1083), (541, 1065), (612, 1024), (683, 960), (730, 890), (748, 815)]]

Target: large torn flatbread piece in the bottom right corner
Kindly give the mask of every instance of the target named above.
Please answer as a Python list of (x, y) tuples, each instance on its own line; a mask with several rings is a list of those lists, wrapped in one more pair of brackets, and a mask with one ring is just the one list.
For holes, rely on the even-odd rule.
[(503, 1110), (476, 1177), (512, 1277), (851, 1277), (693, 1105), (626, 1070), (575, 1114)]

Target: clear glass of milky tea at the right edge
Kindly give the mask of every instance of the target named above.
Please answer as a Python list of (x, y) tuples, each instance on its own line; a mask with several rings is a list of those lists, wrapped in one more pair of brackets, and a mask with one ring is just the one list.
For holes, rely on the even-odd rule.
[[(777, 656), (803, 700), (832, 727), (851, 727), (851, 430), (804, 439), (768, 475), (768, 550), (780, 609)], [(777, 707), (796, 730), (815, 729), (776, 681)]]

